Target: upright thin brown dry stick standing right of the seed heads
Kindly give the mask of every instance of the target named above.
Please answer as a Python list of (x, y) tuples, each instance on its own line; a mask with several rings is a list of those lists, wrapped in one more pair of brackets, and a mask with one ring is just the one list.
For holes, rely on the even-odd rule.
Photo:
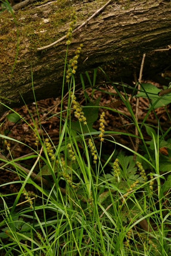
[[(140, 76), (139, 76), (139, 79), (138, 79), (138, 82), (139, 82), (138, 83), (138, 90), (140, 90), (140, 83), (141, 83), (142, 74), (143, 74), (144, 59), (145, 59), (145, 53), (143, 54), (143, 59), (142, 59), (142, 62), (141, 62)], [(137, 91), (137, 94), (138, 93), (139, 93), (139, 91)], [(137, 123), (138, 123), (138, 110), (139, 110), (139, 97), (136, 98), (136, 109), (135, 109), (135, 118), (136, 118)], [(136, 127), (135, 127), (135, 135), (138, 136), (138, 130), (137, 130)], [(139, 138), (135, 139), (135, 143), (136, 143), (135, 144), (135, 152), (136, 153), (138, 151), (139, 141), (140, 141)], [(136, 154), (134, 154), (133, 160), (134, 161), (136, 160)]]

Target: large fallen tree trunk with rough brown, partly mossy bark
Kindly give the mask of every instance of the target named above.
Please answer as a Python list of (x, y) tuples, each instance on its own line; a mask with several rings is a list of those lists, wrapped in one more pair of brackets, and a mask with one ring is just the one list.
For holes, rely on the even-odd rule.
[[(37, 48), (51, 44), (67, 33), (73, 11), (77, 13), (76, 28), (106, 2), (46, 0), (15, 11), (15, 16), (4, 11), (0, 17), (1, 101), (11, 107), (23, 105), (22, 97), (26, 103), (34, 101), (31, 70), (37, 100), (60, 95), (66, 41), (43, 51)], [(169, 45), (170, 38), (170, 0), (113, 0), (73, 34), (67, 61), (82, 43), (76, 75), (113, 61), (114, 78), (130, 77), (133, 72), (139, 72), (141, 58), (146, 52), (143, 74), (147, 78), (151, 72), (156, 75), (170, 65), (169, 51), (148, 53)], [(162, 57), (162, 63), (156, 61)], [(67, 90), (67, 84), (65, 88)], [(1, 106), (0, 112), (3, 110)]]

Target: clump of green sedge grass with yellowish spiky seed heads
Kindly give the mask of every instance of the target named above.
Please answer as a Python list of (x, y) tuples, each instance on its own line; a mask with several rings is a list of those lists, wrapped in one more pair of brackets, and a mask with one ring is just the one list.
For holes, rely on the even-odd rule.
[[(69, 72), (75, 65), (70, 65), (72, 61), (68, 64)], [(0, 160), (3, 165), (0, 168), (13, 173), (18, 180), (0, 186), (17, 184), (19, 192), (0, 194), (0, 252), (5, 256), (170, 255), (171, 171), (167, 169), (170, 155), (161, 156), (159, 148), (170, 147), (170, 141), (165, 137), (171, 128), (164, 132), (159, 125), (156, 133), (156, 127), (144, 124), (151, 110), (155, 112), (156, 103), (151, 103), (144, 121), (139, 124), (128, 95), (120, 93), (116, 83), (101, 69), (131, 114), (131, 118), (127, 117), (131, 125), (139, 132), (138, 136), (128, 132), (119, 134), (141, 139), (141, 154), (116, 142), (113, 135), (118, 131), (108, 131), (105, 127), (105, 111), (122, 113), (103, 106), (98, 118), (100, 98), (93, 101), (93, 95), (94, 90), (103, 89), (95, 87), (97, 69), (94, 69), (93, 83), (86, 72), (93, 86), (92, 95), (86, 93), (81, 74), (85, 101), (89, 102), (81, 106), (75, 96), (74, 72), (70, 72), (68, 78), (66, 66), (67, 53), (63, 76), (63, 87), (67, 79), (69, 88), (67, 106), (63, 108), (62, 91), (61, 111), (48, 113), (46, 117), (58, 117), (60, 136), (57, 144), (48, 133), (44, 138), (46, 129), (37, 105), (37, 121), (28, 109), (33, 125), (15, 111), (15, 116), (8, 115), (8, 118), (17, 115), (18, 121), (30, 127), (34, 138), (32, 148), (7, 136), (1, 124)], [(124, 89), (125, 85), (122, 85)], [(105, 93), (111, 97), (116, 95)], [(76, 122), (74, 118), (77, 118)], [(98, 131), (91, 120), (98, 120)], [(144, 139), (144, 127), (152, 138), (149, 142)], [(32, 154), (15, 159), (9, 140), (29, 147)], [(104, 150), (108, 146), (112, 148), (110, 155)], [(5, 155), (7, 150), (9, 154)], [(27, 166), (26, 161), (32, 161), (32, 165)], [(27, 189), (28, 185), (32, 187), (31, 191)]]

